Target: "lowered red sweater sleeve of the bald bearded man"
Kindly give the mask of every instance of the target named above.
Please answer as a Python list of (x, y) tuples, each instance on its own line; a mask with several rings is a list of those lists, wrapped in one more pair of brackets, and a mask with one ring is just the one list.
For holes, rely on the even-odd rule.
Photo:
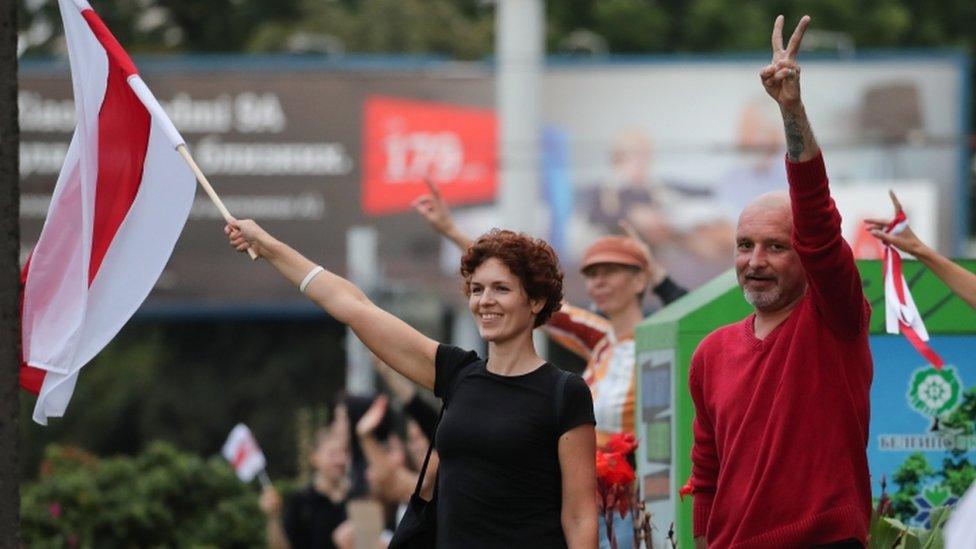
[(718, 452), (715, 449), (715, 430), (705, 406), (701, 383), (701, 354), (691, 359), (688, 387), (695, 404), (695, 420), (692, 425), (694, 444), (691, 447), (692, 521), (694, 537), (703, 537), (708, 531), (708, 518), (715, 499), (718, 482)]

